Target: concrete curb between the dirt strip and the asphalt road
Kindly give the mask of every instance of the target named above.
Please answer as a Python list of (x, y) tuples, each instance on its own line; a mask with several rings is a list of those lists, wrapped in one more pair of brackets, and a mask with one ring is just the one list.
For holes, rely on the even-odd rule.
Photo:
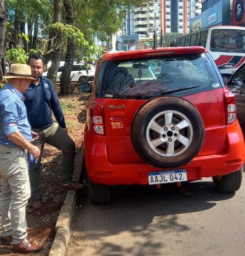
[[(82, 170), (82, 160), (83, 147), (81, 151), (78, 153), (73, 179), (74, 177), (76, 177), (76, 179), (80, 177), (80, 172)], [(76, 207), (77, 197), (77, 191), (68, 191), (67, 196), (65, 198), (65, 202), (60, 209), (60, 214), (55, 226), (56, 235), (53, 240), (52, 247), (49, 251), (49, 256), (65, 256), (70, 241), (70, 227)]]

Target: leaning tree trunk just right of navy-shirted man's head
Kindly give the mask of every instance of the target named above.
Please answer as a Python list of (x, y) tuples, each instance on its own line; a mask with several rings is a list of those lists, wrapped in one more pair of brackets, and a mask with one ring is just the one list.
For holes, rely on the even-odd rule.
[[(53, 23), (61, 21), (62, 0), (53, 2)], [(60, 44), (62, 42), (62, 34), (56, 31), (56, 39), (54, 41), (54, 50), (52, 52), (51, 66), (49, 68), (48, 78), (53, 82), (56, 88), (56, 76), (60, 65)]]

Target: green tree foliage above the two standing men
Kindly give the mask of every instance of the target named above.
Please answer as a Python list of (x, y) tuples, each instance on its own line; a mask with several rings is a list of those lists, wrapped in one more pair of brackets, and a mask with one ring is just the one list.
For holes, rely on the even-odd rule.
[[(60, 21), (53, 22), (56, 2), (4, 0), (8, 18), (5, 49), (10, 62), (25, 61), (29, 50), (34, 49), (43, 53), (46, 62), (58, 51), (61, 58), (69, 56), (69, 65), (75, 57), (83, 59), (86, 65), (92, 55), (100, 53), (94, 45), (96, 37), (107, 41), (121, 27), (129, 8), (152, 0), (62, 0)], [(62, 36), (57, 41), (59, 33)], [(53, 70), (57, 63), (55, 67)]]

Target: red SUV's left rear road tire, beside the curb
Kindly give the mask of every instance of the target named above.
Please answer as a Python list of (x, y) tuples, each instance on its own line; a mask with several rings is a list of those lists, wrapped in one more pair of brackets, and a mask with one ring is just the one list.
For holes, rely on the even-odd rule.
[(92, 204), (107, 204), (110, 202), (111, 196), (108, 185), (96, 184), (88, 178), (88, 186)]

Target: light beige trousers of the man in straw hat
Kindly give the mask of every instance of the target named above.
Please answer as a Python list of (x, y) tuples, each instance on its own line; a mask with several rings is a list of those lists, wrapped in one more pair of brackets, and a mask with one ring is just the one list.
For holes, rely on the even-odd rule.
[(27, 151), (0, 145), (0, 171), (2, 236), (12, 235), (16, 245), (27, 237), (25, 208), (31, 195)]

